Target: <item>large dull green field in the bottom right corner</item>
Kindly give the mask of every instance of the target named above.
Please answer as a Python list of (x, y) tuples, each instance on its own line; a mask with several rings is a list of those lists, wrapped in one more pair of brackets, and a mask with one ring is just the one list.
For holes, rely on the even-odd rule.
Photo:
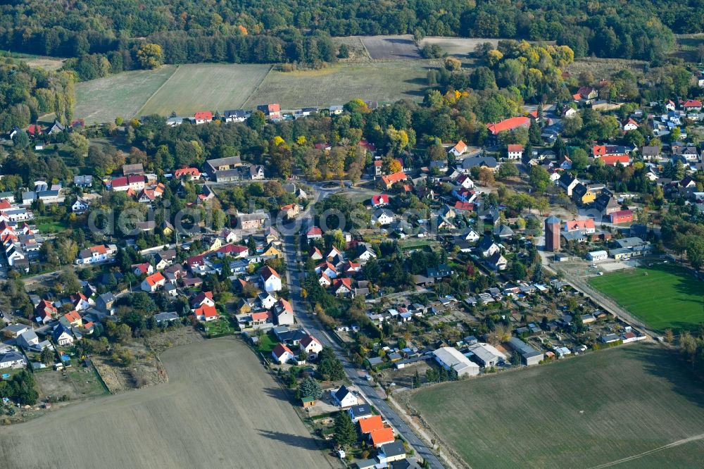
[[(704, 389), (675, 351), (634, 344), (410, 396), (472, 468), (700, 466)], [(666, 461), (666, 462), (665, 462)], [(619, 466), (621, 467), (621, 466)]]

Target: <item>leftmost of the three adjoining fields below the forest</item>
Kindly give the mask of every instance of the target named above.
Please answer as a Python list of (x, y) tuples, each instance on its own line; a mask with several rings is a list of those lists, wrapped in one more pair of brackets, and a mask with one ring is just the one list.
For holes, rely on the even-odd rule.
[(125, 72), (79, 83), (74, 114), (86, 123), (111, 122), (118, 116), (132, 118), (175, 70), (173, 65), (164, 65), (158, 70)]

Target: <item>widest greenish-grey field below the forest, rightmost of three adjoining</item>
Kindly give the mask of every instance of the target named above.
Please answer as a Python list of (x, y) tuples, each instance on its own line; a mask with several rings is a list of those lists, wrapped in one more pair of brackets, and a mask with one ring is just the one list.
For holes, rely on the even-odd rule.
[(341, 63), (321, 70), (272, 70), (244, 104), (278, 102), (283, 109), (366, 101), (420, 101), (426, 88), (429, 61)]

